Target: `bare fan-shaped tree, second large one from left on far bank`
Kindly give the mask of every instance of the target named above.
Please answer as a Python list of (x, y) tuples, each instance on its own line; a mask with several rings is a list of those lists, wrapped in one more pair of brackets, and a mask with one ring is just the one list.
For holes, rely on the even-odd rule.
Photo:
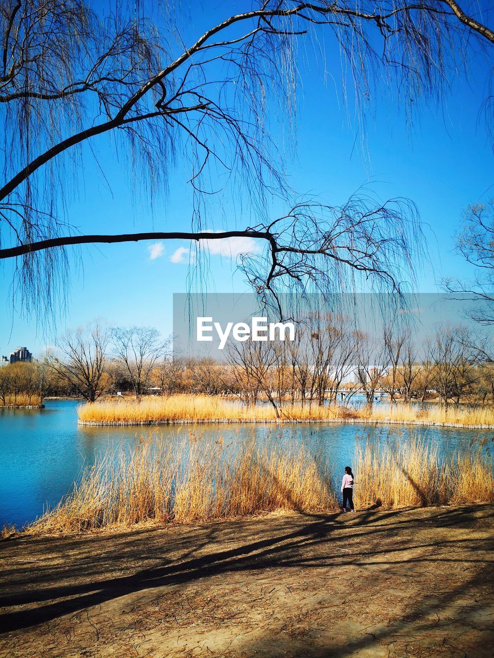
[(112, 332), (112, 342), (113, 357), (128, 376), (136, 399), (140, 400), (151, 371), (163, 353), (159, 331), (153, 327), (117, 327)]

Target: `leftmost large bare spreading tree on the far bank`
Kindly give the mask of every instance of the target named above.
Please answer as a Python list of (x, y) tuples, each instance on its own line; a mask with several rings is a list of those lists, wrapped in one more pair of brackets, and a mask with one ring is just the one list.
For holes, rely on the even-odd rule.
[(49, 366), (79, 395), (94, 402), (101, 393), (108, 341), (109, 329), (99, 322), (68, 331), (59, 341), (58, 353), (48, 357)]

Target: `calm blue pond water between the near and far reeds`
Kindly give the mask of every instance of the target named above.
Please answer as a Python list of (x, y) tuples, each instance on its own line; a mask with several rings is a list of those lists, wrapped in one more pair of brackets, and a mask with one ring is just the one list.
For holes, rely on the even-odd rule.
[[(143, 436), (177, 443), (194, 432), (212, 446), (223, 438), (221, 449), (230, 451), (252, 436), (268, 446), (303, 443), (339, 473), (351, 463), (356, 441), (384, 442), (397, 432), (400, 440), (406, 440), (417, 432), (406, 426), (337, 424), (95, 428), (78, 426), (75, 401), (48, 400), (45, 404), (45, 409), (0, 409), (0, 527), (5, 523), (22, 527), (36, 519), (43, 509), (56, 505), (72, 490), (85, 465), (92, 465), (99, 456), (121, 445), (132, 447)], [(419, 431), (443, 453), (468, 447), (472, 440), (485, 435), (481, 430), (456, 428)]]

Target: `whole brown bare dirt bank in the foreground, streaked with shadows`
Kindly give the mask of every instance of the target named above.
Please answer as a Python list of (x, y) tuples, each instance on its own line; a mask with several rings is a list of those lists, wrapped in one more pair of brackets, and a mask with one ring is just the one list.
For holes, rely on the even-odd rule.
[(494, 506), (0, 543), (0, 657), (491, 657)]

